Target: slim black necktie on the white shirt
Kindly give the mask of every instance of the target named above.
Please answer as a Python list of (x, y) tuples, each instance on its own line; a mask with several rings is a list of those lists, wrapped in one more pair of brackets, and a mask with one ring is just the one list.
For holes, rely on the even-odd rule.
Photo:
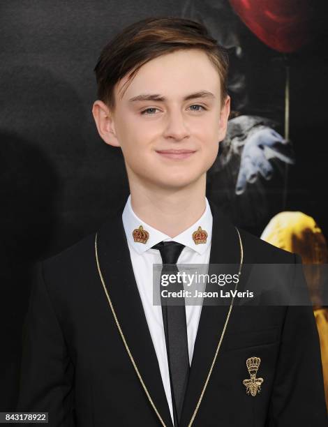
[[(161, 241), (152, 248), (160, 251), (163, 264), (175, 264), (172, 266), (163, 265), (161, 276), (163, 274), (175, 274), (179, 271), (177, 260), (184, 245), (176, 241)], [(177, 281), (177, 283), (170, 283), (166, 287), (161, 286), (160, 289), (161, 291), (166, 289), (167, 291), (178, 292), (184, 290), (184, 285)], [(184, 297), (172, 297), (170, 299), (161, 296), (175, 427), (179, 425), (189, 376), (188, 336), (184, 302)]]

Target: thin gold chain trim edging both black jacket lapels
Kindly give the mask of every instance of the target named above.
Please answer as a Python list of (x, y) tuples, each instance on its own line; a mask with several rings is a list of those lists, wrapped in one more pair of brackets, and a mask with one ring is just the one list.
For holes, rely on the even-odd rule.
[[(237, 227), (235, 227), (235, 228), (236, 228), (237, 233), (238, 233), (238, 237), (239, 237), (239, 246), (240, 246), (240, 264), (239, 264), (239, 271), (238, 271), (238, 276), (240, 277), (240, 275), (241, 275), (241, 266), (242, 266), (242, 264), (243, 264), (243, 259), (244, 259), (244, 250), (243, 250), (243, 245), (242, 245), (242, 242), (241, 242), (241, 237), (240, 237), (240, 234), (239, 234), (239, 230), (237, 229)], [(135, 364), (135, 360), (133, 359), (133, 355), (132, 355), (132, 353), (131, 353), (131, 351), (130, 351), (130, 349), (129, 349), (129, 347), (128, 347), (128, 343), (126, 342), (126, 338), (125, 338), (125, 336), (124, 336), (124, 334), (123, 334), (123, 331), (122, 331), (122, 329), (121, 329), (121, 325), (119, 324), (119, 320), (117, 319), (117, 315), (116, 315), (115, 310), (114, 310), (114, 307), (113, 307), (113, 305), (112, 305), (112, 301), (111, 301), (111, 299), (110, 299), (110, 295), (109, 295), (109, 294), (108, 294), (108, 292), (107, 292), (107, 288), (106, 288), (106, 286), (105, 286), (105, 280), (103, 279), (103, 274), (102, 274), (102, 273), (101, 273), (101, 271), (100, 271), (100, 265), (99, 265), (99, 260), (98, 260), (97, 237), (98, 237), (98, 232), (96, 233), (96, 239), (95, 239), (95, 242), (94, 242), (94, 246), (95, 246), (95, 253), (96, 253), (96, 263), (97, 263), (97, 268), (98, 268), (98, 274), (99, 274), (99, 276), (100, 276), (101, 283), (103, 284), (103, 289), (104, 289), (104, 291), (105, 291), (105, 294), (106, 294), (106, 297), (107, 297), (108, 303), (110, 304), (110, 309), (112, 310), (112, 315), (113, 315), (114, 320), (115, 320), (115, 323), (116, 323), (116, 325), (117, 325), (117, 329), (119, 329), (119, 334), (121, 335), (121, 338), (122, 338), (122, 340), (123, 340), (124, 346), (126, 347), (126, 351), (128, 352), (128, 356), (129, 356), (129, 357), (130, 357), (130, 359), (131, 359), (131, 362), (132, 362), (132, 364), (133, 364), (133, 368), (135, 368), (135, 372), (137, 373), (137, 377), (139, 378), (139, 380), (140, 380), (140, 382), (141, 382), (141, 384), (142, 384), (142, 388), (144, 389), (144, 392), (146, 393), (147, 398), (148, 398), (148, 400), (149, 400), (149, 402), (150, 402), (151, 406), (153, 407), (154, 411), (156, 412), (156, 415), (157, 415), (158, 419), (161, 421), (162, 426), (163, 426), (163, 427), (166, 427), (166, 424), (165, 424), (165, 422), (163, 421), (163, 419), (162, 419), (161, 415), (159, 414), (159, 412), (158, 412), (158, 410), (157, 410), (157, 408), (156, 408), (156, 406), (155, 406), (155, 404), (154, 404), (153, 400), (151, 400), (151, 396), (150, 396), (149, 391), (148, 391), (148, 389), (147, 389), (147, 387), (146, 387), (146, 384), (144, 384), (144, 381), (142, 380), (142, 376), (140, 375), (140, 372), (139, 372), (139, 370), (138, 370), (138, 368), (137, 368), (137, 365)], [(236, 286), (234, 287), (234, 291), (236, 291), (236, 290), (237, 290), (238, 282), (239, 282), (239, 280), (237, 281)], [(199, 400), (198, 400), (198, 402), (197, 402), (197, 405), (196, 405), (196, 407), (195, 407), (195, 411), (193, 412), (193, 417), (191, 417), (191, 421), (190, 421), (190, 423), (188, 424), (188, 427), (191, 427), (191, 425), (193, 424), (193, 421), (194, 421), (194, 419), (195, 419), (195, 417), (196, 417), (196, 414), (197, 414), (197, 412), (198, 412), (198, 409), (199, 409), (199, 407), (200, 407), (200, 403), (202, 402), (202, 398), (203, 398), (203, 396), (204, 396), (204, 392), (205, 392), (206, 387), (207, 387), (207, 384), (208, 384), (208, 382), (209, 382), (209, 378), (211, 377), (211, 373), (212, 373), (212, 370), (213, 370), (213, 368), (214, 368), (214, 364), (215, 364), (215, 362), (216, 362), (216, 358), (218, 357), (218, 351), (220, 350), (221, 343), (222, 343), (222, 340), (223, 340), (223, 336), (224, 336), (224, 334), (225, 334), (225, 329), (227, 328), (227, 325), (228, 325), (228, 321), (229, 321), (229, 317), (230, 317), (230, 313), (231, 313), (231, 310), (232, 310), (232, 305), (233, 305), (233, 303), (234, 303), (234, 297), (232, 297), (232, 300), (231, 300), (231, 303), (230, 303), (230, 307), (229, 307), (228, 315), (227, 315), (227, 317), (226, 317), (226, 319), (225, 319), (225, 324), (224, 324), (224, 327), (223, 327), (223, 330), (222, 330), (221, 338), (220, 338), (220, 340), (218, 341), (218, 347), (216, 347), (216, 352), (215, 352), (215, 354), (214, 354), (214, 359), (213, 359), (213, 361), (212, 361), (211, 368), (209, 369), (209, 374), (207, 375), (207, 379), (206, 379), (206, 381), (205, 381), (204, 387), (202, 388), (202, 393), (200, 394), (200, 398), (199, 398)]]

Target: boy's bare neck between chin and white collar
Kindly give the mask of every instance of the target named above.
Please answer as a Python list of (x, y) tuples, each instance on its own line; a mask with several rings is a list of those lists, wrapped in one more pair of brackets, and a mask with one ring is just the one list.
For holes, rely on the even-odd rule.
[(206, 174), (184, 188), (151, 188), (133, 181), (131, 206), (135, 214), (167, 236), (174, 238), (193, 225), (206, 208)]

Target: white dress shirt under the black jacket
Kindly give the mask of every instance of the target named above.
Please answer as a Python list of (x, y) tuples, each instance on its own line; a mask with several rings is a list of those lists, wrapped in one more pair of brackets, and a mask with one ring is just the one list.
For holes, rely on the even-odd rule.
[[(144, 223), (138, 218), (131, 206), (131, 195), (124, 207), (122, 220), (126, 239), (128, 240), (128, 248), (130, 250), (131, 262), (135, 274), (135, 280), (140, 293), (144, 314), (147, 319), (151, 339), (153, 340), (154, 349), (158, 359), (163, 387), (165, 390), (167, 403), (170, 407), (171, 417), (173, 421), (172, 396), (170, 387), (169, 367), (167, 362), (167, 351), (165, 343), (165, 332), (163, 327), (162, 308), (160, 305), (153, 304), (153, 264), (162, 264), (161, 254), (159, 250), (152, 249), (151, 246), (158, 244), (160, 241), (177, 241), (185, 247), (182, 250), (177, 264), (209, 264), (209, 254), (211, 251), (211, 234), (213, 217), (207, 197), (205, 197), (206, 208), (202, 216), (191, 227), (188, 227), (184, 232), (181, 232), (174, 238), (167, 234), (156, 230), (147, 223)], [(135, 242), (133, 239), (133, 230), (139, 228), (140, 225), (149, 232), (149, 239), (146, 244)], [(202, 227), (207, 231), (207, 241), (204, 244), (195, 244), (192, 234)], [(200, 320), (202, 306), (186, 304), (186, 323), (188, 334), (188, 353), (189, 361), (193, 359), (193, 347)]]

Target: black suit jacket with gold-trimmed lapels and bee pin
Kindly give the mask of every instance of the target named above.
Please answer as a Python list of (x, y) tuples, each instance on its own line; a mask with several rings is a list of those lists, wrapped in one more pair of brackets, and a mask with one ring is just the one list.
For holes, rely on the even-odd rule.
[[(234, 225), (213, 202), (210, 263), (239, 264)], [(98, 230), (105, 286), (137, 377), (98, 275), (95, 234), (38, 265), (23, 329), (16, 410), (49, 412), (61, 427), (172, 427), (158, 361), (144, 316), (121, 220), (123, 206)], [(299, 255), (239, 230), (245, 263), (297, 263)], [(241, 275), (242, 276), (242, 275)], [(292, 284), (285, 283), (286, 286)], [(240, 284), (241, 287), (245, 286)], [(203, 306), (181, 427), (200, 398), (228, 306)], [(248, 357), (260, 357), (260, 394), (246, 394)], [(318, 332), (311, 306), (232, 308), (195, 427), (327, 426)]]

